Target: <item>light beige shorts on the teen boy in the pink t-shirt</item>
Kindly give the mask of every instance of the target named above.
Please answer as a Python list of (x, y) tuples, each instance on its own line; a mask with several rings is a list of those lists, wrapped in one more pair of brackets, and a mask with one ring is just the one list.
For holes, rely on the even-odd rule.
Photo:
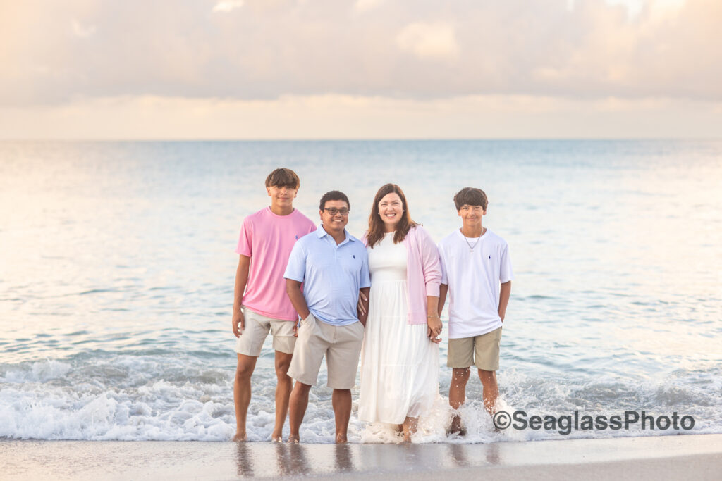
[(244, 328), (235, 341), (235, 352), (245, 356), (261, 356), (266, 336), (273, 335), (273, 348), (282, 353), (292, 354), (296, 337), (293, 335), (293, 321), (282, 321), (253, 312), (248, 307), (241, 307), (245, 318)]

